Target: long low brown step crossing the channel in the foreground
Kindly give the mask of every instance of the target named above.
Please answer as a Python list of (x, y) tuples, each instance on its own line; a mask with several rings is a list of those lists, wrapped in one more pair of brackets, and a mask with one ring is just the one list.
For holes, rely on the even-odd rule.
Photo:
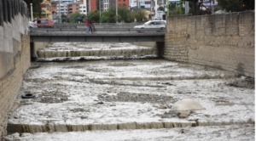
[(9, 123), (8, 133), (54, 133), (54, 132), (83, 132), (96, 130), (133, 130), (133, 129), (160, 129), (176, 127), (207, 127), (254, 124), (254, 121), (228, 121), (228, 122), (127, 122), (116, 124), (87, 124), (87, 125), (61, 125), (47, 123), (44, 125), (12, 124)]

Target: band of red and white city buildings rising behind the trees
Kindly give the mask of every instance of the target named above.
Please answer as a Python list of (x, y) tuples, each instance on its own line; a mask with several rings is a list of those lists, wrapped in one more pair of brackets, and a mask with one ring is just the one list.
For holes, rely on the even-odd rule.
[(41, 3), (42, 13), (33, 17), (58, 19), (60, 15), (70, 15), (76, 12), (87, 15), (94, 11), (107, 11), (109, 8), (123, 7), (130, 10), (145, 9), (154, 17), (156, 11), (166, 8), (166, 0), (44, 0)]

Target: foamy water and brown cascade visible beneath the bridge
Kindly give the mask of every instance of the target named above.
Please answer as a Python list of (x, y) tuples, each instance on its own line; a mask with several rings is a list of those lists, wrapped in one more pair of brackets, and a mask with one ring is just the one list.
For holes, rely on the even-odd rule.
[[(66, 46), (66, 49), (60, 48)], [(136, 47), (136, 48), (135, 48)], [(94, 46), (91, 43), (66, 43), (65, 45), (55, 43), (49, 45), (47, 48), (38, 50), (38, 58), (67, 58), (67, 57), (143, 57), (156, 56), (155, 48), (137, 47), (130, 43), (111, 43)]]

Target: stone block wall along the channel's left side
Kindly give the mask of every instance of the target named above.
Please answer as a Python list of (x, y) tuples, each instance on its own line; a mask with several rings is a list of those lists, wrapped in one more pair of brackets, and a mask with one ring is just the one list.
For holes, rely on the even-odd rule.
[(30, 66), (28, 13), (22, 0), (0, 0), (0, 140)]

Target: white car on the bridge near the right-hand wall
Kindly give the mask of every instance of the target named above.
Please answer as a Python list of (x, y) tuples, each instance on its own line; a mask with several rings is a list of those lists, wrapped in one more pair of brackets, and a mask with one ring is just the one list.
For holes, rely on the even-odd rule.
[[(166, 30), (166, 20), (148, 20), (143, 25), (136, 25), (133, 29), (155, 29), (156, 31)], [(137, 30), (142, 31), (142, 30)]]

